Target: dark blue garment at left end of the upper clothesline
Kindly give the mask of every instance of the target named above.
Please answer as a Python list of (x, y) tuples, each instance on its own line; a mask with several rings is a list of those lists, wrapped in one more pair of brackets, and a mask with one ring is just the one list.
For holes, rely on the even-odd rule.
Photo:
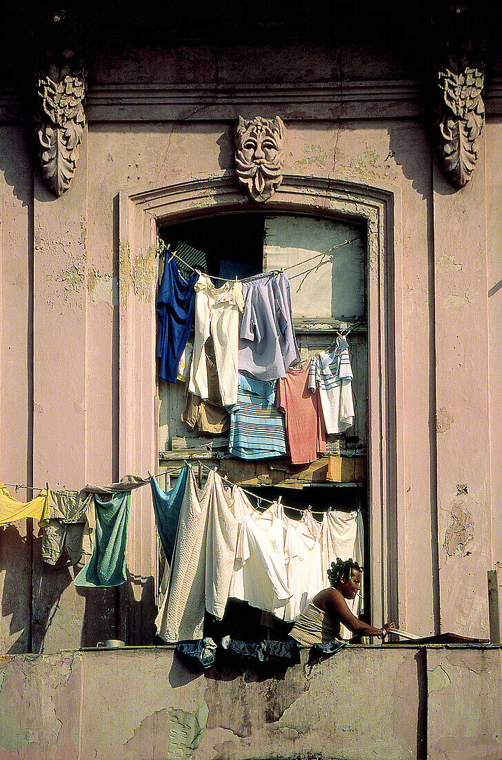
[(194, 272), (185, 280), (174, 258), (166, 254), (162, 280), (157, 294), (157, 357), (158, 376), (168, 382), (176, 382), (180, 356), (190, 334), (195, 293), (193, 286), (199, 279)]

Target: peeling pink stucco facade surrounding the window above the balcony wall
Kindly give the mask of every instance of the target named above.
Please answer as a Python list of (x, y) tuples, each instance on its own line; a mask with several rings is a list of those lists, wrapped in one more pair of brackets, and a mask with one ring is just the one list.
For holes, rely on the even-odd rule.
[[(42, 176), (20, 92), (5, 80), (0, 477), (80, 489), (165, 465), (159, 230), (257, 211), (355, 224), (365, 238), (371, 618), (423, 636), (488, 639), (486, 575), (502, 560), (502, 64), (491, 64), (481, 135), (469, 138), (472, 173), (459, 182), (432, 134), (431, 90), (399, 46), (355, 33), (336, 45), (195, 37), (158, 46), (116, 33), (109, 46), (95, 44), (80, 155), (61, 195)], [(239, 116), (276, 115), (287, 128), (284, 176), (257, 204), (237, 180), (234, 127)], [(74, 568), (42, 563), (36, 534), (30, 521), (0, 528), (2, 656), (103, 638), (152, 644), (149, 489), (133, 496), (121, 587), (77, 591)], [(490, 752), (500, 752), (500, 735), (493, 742)], [(13, 746), (0, 756), (39, 756)], [(417, 747), (406, 756), (425, 757)], [(403, 756), (397, 745), (375, 755)]]

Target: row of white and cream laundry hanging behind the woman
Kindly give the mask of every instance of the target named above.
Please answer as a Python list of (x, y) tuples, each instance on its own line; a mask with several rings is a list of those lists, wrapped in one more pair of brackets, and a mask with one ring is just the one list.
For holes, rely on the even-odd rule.
[[(301, 524), (278, 502), (256, 512), (240, 486), (229, 497), (214, 470), (201, 490), (188, 470), (168, 591), (156, 620), (165, 641), (200, 638), (205, 610), (221, 619), (229, 598), (293, 620), (328, 584), (331, 561), (356, 555), (358, 513), (330, 511), (321, 524), (310, 513)], [(218, 540), (212, 540), (218, 525)]]

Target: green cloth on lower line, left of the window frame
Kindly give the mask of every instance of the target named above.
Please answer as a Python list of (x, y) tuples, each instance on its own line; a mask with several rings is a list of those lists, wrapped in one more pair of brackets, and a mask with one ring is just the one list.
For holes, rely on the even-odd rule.
[(130, 492), (117, 493), (108, 502), (94, 496), (96, 533), (93, 555), (75, 578), (76, 586), (120, 586), (125, 574)]

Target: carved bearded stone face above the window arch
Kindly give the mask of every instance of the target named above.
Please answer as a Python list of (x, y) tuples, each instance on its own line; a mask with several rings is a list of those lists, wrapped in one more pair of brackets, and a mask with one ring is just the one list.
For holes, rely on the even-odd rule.
[(267, 201), (282, 182), (284, 167), (284, 123), (275, 119), (245, 121), (239, 116), (235, 128), (237, 177), (253, 201)]

